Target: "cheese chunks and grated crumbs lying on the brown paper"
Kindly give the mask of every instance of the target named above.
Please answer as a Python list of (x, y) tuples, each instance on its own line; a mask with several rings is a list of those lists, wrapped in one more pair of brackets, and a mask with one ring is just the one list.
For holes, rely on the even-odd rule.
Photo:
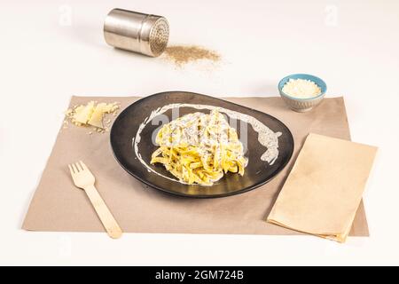
[[(66, 119), (64, 125), (68, 121), (74, 123), (76, 126), (93, 127), (95, 131), (104, 133), (108, 130), (111, 123), (111, 119), (107, 119), (106, 123), (103, 119), (106, 114), (116, 115), (117, 110), (120, 108), (120, 104), (117, 102), (107, 104), (107, 103), (96, 103), (95, 101), (90, 101), (87, 105), (74, 106), (66, 111)], [(93, 133), (90, 130), (89, 134)]]

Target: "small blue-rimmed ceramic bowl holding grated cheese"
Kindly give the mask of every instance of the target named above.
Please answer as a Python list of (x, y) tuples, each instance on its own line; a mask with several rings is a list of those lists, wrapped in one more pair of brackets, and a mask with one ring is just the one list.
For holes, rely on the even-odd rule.
[[(284, 85), (288, 82), (290, 79), (304, 79), (304, 80), (310, 80), (313, 81), (314, 83), (317, 84), (317, 86), (320, 87), (321, 93), (317, 95), (317, 97), (314, 98), (309, 98), (309, 99), (298, 99), (294, 98), (290, 95), (287, 95), (283, 91)], [(327, 91), (327, 85), (325, 82), (320, 79), (317, 76), (314, 75), (309, 75), (309, 74), (293, 74), (293, 75), (287, 75), (283, 79), (280, 80), (278, 83), (278, 91), (280, 92), (281, 98), (284, 99), (286, 102), (287, 106), (289, 106), (291, 109), (293, 109), (296, 112), (307, 112), (313, 107), (317, 106), (320, 104), (320, 102), (325, 98), (325, 91)]]

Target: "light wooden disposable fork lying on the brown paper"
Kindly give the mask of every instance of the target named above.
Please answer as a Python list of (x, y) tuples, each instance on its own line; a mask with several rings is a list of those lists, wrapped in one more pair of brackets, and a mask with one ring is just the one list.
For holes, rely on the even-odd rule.
[(72, 179), (74, 179), (74, 185), (82, 188), (89, 197), (91, 204), (98, 214), (101, 223), (106, 228), (106, 232), (113, 239), (121, 237), (121, 227), (116, 223), (110, 210), (106, 207), (106, 202), (103, 201), (99, 195), (94, 183), (96, 178), (90, 172), (89, 168), (82, 162), (75, 162), (68, 165), (71, 171)]

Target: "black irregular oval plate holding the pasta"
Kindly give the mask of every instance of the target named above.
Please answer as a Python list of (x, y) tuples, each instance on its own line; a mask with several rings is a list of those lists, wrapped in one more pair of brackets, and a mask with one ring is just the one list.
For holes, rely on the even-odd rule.
[[(141, 132), (141, 140), (137, 143), (138, 153), (141, 155), (141, 158), (155, 172), (148, 170), (143, 163), (139, 161), (134, 150), (132, 139), (136, 137), (138, 128), (142, 122), (145, 122), (145, 119), (149, 117), (153, 110), (176, 103), (221, 106), (241, 114), (253, 116), (268, 126), (270, 130), (274, 132), (280, 131), (282, 133), (278, 138), (278, 159), (272, 165), (260, 159), (262, 154), (266, 151), (266, 148), (259, 143), (257, 132), (252, 129), (250, 124), (247, 124), (246, 157), (248, 157), (249, 162), (246, 166), (244, 176), (241, 177), (237, 173), (228, 173), (214, 185), (210, 186), (184, 185), (179, 183), (176, 177), (173, 177), (163, 165), (150, 165), (151, 154), (158, 148), (158, 146), (154, 145), (152, 142), (153, 135), (157, 133), (162, 119), (171, 120), (172, 110), (168, 110), (163, 114), (163, 117), (156, 117), (152, 122), (145, 125)], [(194, 112), (209, 113), (209, 110), (199, 110), (184, 106), (179, 107), (178, 116)], [(237, 125), (239, 126), (240, 123), (238, 122)], [(236, 129), (240, 137), (240, 127)], [(269, 114), (264, 114), (246, 106), (239, 106), (223, 99), (215, 99), (192, 92), (170, 91), (140, 99), (123, 110), (115, 119), (115, 122), (113, 122), (111, 146), (116, 160), (121, 164), (123, 169), (127, 170), (133, 177), (136, 177), (146, 185), (177, 195), (207, 198), (244, 193), (270, 181), (280, 170), (283, 170), (286, 163), (290, 160), (293, 154), (293, 135), (283, 122), (280, 122), (277, 118)], [(164, 177), (157, 173), (160, 173), (160, 175)]]

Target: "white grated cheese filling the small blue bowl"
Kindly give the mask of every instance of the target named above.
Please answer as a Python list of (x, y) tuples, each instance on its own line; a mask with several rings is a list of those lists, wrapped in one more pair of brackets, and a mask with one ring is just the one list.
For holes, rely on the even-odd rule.
[(284, 85), (283, 92), (294, 98), (310, 99), (317, 97), (321, 93), (321, 89), (310, 80), (290, 79)]

